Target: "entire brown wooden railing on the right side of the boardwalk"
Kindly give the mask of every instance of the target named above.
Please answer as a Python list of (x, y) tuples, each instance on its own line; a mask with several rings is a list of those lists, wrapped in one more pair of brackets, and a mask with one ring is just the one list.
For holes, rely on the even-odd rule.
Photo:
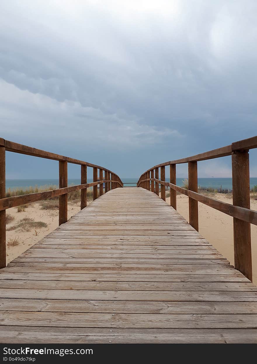
[[(249, 149), (257, 148), (257, 136), (244, 139), (223, 148), (211, 150), (193, 157), (169, 161), (144, 172), (137, 183), (155, 192), (165, 201), (165, 186), (170, 187), (170, 204), (176, 209), (176, 191), (189, 198), (189, 224), (198, 231), (198, 201), (233, 217), (234, 264), (252, 281), (252, 252), (250, 224), (257, 225), (257, 211), (250, 210)], [(198, 193), (197, 162), (232, 156), (233, 205)], [(188, 163), (188, 190), (176, 185), (176, 164)], [(165, 182), (165, 166), (170, 166), (170, 182)], [(160, 168), (160, 178), (159, 178)]]

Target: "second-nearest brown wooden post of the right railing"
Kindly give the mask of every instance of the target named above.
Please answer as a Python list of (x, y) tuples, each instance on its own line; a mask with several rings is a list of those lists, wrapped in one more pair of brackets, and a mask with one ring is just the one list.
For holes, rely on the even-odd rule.
[[(188, 190), (198, 192), (197, 162), (188, 162)], [(198, 201), (188, 198), (189, 203), (189, 224), (199, 230), (198, 226)]]

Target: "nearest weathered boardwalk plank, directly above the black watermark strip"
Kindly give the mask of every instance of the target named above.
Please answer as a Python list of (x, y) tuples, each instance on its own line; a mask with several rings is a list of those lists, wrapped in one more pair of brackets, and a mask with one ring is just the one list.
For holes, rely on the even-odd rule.
[(257, 343), (256, 329), (113, 329), (2, 326), (3, 343)]

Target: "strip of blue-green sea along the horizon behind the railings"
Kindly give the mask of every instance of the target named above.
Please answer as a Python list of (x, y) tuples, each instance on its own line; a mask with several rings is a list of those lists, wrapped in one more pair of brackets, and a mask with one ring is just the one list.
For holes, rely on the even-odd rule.
[[(185, 178), (177, 178), (176, 184), (178, 186), (183, 185), (183, 180)], [(138, 178), (123, 178), (122, 182), (124, 183), (124, 186), (136, 186), (136, 182), (138, 181)], [(93, 182), (92, 179), (88, 178), (87, 183)], [(166, 182), (170, 182), (168, 178), (166, 178)], [(58, 179), (7, 179), (6, 180), (6, 189), (9, 188), (16, 189), (19, 187), (22, 187), (25, 189), (26, 187), (42, 187), (42, 186), (53, 186), (59, 185)], [(80, 179), (74, 178), (74, 179), (68, 179), (68, 184), (70, 185), (79, 185)], [(250, 188), (253, 188), (257, 185), (257, 177), (251, 177), (250, 178)], [(221, 190), (232, 190), (232, 178), (198, 178), (198, 186), (200, 187), (214, 187)]]

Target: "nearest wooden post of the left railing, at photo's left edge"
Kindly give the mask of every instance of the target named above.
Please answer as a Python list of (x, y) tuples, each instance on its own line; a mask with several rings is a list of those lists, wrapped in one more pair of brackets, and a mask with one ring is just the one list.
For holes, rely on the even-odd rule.
[[(5, 147), (0, 146), (0, 198), (5, 198)], [(5, 210), (0, 211), (0, 268), (6, 266)]]

